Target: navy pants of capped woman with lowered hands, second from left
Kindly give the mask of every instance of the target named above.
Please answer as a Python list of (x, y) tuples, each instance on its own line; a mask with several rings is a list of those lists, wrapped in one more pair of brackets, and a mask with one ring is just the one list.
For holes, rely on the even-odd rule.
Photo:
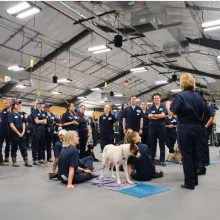
[(27, 158), (28, 154), (27, 154), (27, 140), (25, 139), (25, 137), (18, 137), (17, 135), (11, 135), (11, 157), (12, 158), (16, 158), (17, 157), (17, 150), (18, 147), (20, 149), (21, 155), (23, 157), (23, 159), (25, 160), (25, 158)]

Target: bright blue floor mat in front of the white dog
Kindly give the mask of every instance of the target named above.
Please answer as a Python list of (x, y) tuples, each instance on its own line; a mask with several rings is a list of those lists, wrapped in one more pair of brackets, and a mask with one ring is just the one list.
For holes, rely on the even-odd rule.
[(129, 189), (118, 190), (117, 192), (121, 192), (130, 196), (134, 196), (137, 198), (143, 198), (146, 196), (151, 196), (154, 194), (166, 192), (169, 189), (162, 188), (159, 186), (152, 186), (148, 184), (138, 183), (136, 186), (131, 187)]

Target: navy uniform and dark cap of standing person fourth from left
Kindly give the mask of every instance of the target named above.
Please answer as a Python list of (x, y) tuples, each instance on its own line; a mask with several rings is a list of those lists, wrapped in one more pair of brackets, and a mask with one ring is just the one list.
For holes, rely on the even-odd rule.
[[(45, 107), (51, 107), (52, 105), (49, 103), (45, 104)], [(48, 114), (47, 112), (46, 114), (46, 119), (47, 119), (47, 124), (45, 125), (45, 148), (43, 150), (43, 160), (46, 159), (45, 157), (45, 150), (47, 151), (47, 161), (48, 162), (53, 162), (52, 161), (52, 155), (51, 155), (51, 144), (53, 141), (53, 134), (54, 134), (54, 123), (56, 122), (56, 117), (53, 113)]]

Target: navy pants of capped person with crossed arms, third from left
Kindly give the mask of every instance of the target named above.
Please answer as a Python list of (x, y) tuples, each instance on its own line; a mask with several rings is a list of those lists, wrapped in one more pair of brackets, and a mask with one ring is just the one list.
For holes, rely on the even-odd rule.
[(43, 160), (44, 150), (44, 127), (34, 126), (32, 136), (32, 157), (33, 162), (41, 162)]

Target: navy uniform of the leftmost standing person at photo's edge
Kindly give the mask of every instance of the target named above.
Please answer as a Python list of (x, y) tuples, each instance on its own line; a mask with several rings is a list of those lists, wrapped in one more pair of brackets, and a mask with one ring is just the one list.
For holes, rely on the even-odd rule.
[(3, 162), (2, 148), (3, 142), (5, 141), (5, 162), (9, 161), (10, 153), (10, 139), (9, 139), (9, 127), (8, 127), (8, 113), (9, 111), (5, 108), (0, 113), (0, 163)]

